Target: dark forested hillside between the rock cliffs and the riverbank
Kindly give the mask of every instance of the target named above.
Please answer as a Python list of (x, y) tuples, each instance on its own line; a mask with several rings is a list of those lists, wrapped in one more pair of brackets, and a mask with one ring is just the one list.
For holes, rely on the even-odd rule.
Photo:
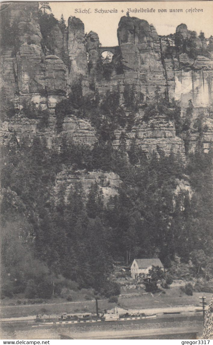
[[(106, 206), (97, 184), (91, 185), (85, 200), (80, 183), (71, 191), (67, 204), (61, 190), (60, 202), (55, 205), (54, 180), (64, 155), (48, 149), (39, 139), (30, 147), (28, 142), (14, 142), (2, 149), (5, 294), (23, 292), (33, 285), (39, 296), (47, 297), (52, 291), (51, 281), (55, 279), (61, 286), (62, 277), (79, 287), (98, 290), (114, 261), (127, 260), (130, 264), (134, 257), (160, 257), (170, 267), (175, 255), (183, 262), (194, 256), (194, 274), (199, 260), (211, 273), (211, 152), (197, 150), (184, 166), (173, 152), (168, 157), (157, 157), (153, 152), (147, 159), (132, 147), (131, 164), (123, 150), (125, 140), (122, 144), (118, 150), (109, 144), (99, 147), (99, 166), (96, 159), (93, 164), (95, 147), (72, 145), (66, 151), (77, 168), (97, 169), (104, 163), (105, 170), (119, 174), (119, 195)], [(174, 195), (185, 174), (193, 189), (191, 199), (186, 191)]]

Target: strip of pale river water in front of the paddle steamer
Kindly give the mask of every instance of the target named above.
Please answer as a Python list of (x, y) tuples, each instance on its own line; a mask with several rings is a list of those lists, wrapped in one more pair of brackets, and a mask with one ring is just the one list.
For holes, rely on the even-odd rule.
[[(174, 333), (198, 332), (202, 336), (202, 313), (183, 313), (174, 315), (157, 315), (155, 319), (145, 319), (125, 322), (100, 322), (96, 324), (72, 324), (56, 326), (39, 325), (8, 325), (2, 326), (3, 339), (60, 339), (60, 335), (73, 339), (143, 339), (150, 334), (153, 336)], [(178, 335), (177, 335), (178, 336)], [(180, 337), (182, 339), (183, 336)], [(164, 339), (167, 339), (165, 336)], [(189, 339), (189, 338), (187, 338)]]

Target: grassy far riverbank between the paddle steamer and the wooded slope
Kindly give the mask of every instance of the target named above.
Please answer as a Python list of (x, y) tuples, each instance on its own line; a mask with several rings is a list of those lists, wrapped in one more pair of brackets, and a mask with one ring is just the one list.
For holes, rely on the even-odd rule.
[[(156, 293), (156, 294), (147, 294), (147, 293), (136, 293), (134, 296), (129, 294), (122, 295), (119, 297), (118, 303), (119, 306), (123, 309), (143, 309), (143, 312), (147, 312), (148, 309), (152, 309), (152, 313), (155, 313), (157, 309), (165, 311), (168, 308), (178, 308), (183, 306), (193, 307), (195, 310), (196, 306), (199, 305), (199, 296), (202, 293), (193, 293), (193, 296), (187, 296), (180, 292), (179, 288), (167, 289), (166, 293)], [(210, 293), (204, 293), (206, 296), (206, 303), (209, 304), (209, 301), (212, 297)], [(5, 302), (5, 301), (2, 301)], [(83, 300), (83, 301), (73, 301), (67, 302), (62, 298), (51, 299), (49, 303), (42, 304), (33, 304), (33, 305), (3, 305), (1, 303), (1, 318), (20, 318), (20, 317), (30, 317), (37, 314), (46, 314), (46, 315), (61, 315), (64, 313), (95, 313), (95, 300)], [(104, 309), (112, 309), (115, 304), (109, 303), (107, 299), (101, 299), (98, 302), (100, 313)], [(179, 311), (179, 309), (175, 309)]]

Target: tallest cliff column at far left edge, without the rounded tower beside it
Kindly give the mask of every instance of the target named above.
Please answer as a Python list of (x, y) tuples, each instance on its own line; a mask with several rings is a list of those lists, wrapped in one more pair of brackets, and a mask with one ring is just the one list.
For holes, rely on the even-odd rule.
[(2, 46), (1, 85), (6, 96), (44, 93), (44, 73), (40, 66), (42, 49), (38, 4), (26, 3), (19, 7), (18, 3), (6, 3), (3, 9), (2, 26), (7, 25), (7, 30)]

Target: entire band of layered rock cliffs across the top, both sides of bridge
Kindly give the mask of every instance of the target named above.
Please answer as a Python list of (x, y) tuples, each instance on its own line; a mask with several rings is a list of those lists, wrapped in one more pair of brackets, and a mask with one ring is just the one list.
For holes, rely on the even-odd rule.
[[(168, 43), (165, 37), (159, 39), (155, 28), (147, 21), (122, 17), (118, 27), (119, 46), (100, 47), (97, 33), (91, 31), (85, 37), (84, 24), (75, 17), (70, 17), (68, 27), (61, 30), (59, 22), (51, 15), (47, 35), (48, 29), (41, 24), (36, 2), (4, 3), (1, 16), (1, 91), (6, 102), (1, 132), (3, 142), (15, 133), (18, 140), (24, 136), (45, 137), (50, 147), (58, 149), (64, 136), (72, 138), (76, 144), (93, 145), (97, 137), (89, 119), (66, 114), (62, 130), (57, 130), (55, 107), (67, 99), (73, 85), (80, 80), (83, 96), (93, 97), (98, 92), (100, 102), (108, 90), (119, 87), (124, 111), (127, 111), (124, 90), (128, 85), (134, 86), (135, 92), (142, 95), (143, 103), (148, 104), (154, 100), (158, 87), (159, 97), (175, 98), (180, 102), (183, 118), (191, 100), (190, 149), (195, 148), (198, 136), (193, 121), (201, 114), (203, 147), (209, 149), (212, 140), (212, 49), (185, 24), (177, 27), (174, 42)], [(113, 53), (107, 77), (101, 59), (104, 49)], [(14, 105), (13, 116), (6, 114), (8, 102)], [(47, 114), (45, 124), (42, 122), (44, 114)], [(148, 122), (143, 121), (140, 109), (135, 120), (138, 118), (131, 130), (118, 128), (115, 131), (115, 146), (118, 146), (119, 133), (125, 130), (130, 139), (136, 137), (138, 145), (147, 153), (160, 148), (168, 154), (173, 149), (184, 156), (184, 136), (176, 136), (172, 120), (161, 114)]]

